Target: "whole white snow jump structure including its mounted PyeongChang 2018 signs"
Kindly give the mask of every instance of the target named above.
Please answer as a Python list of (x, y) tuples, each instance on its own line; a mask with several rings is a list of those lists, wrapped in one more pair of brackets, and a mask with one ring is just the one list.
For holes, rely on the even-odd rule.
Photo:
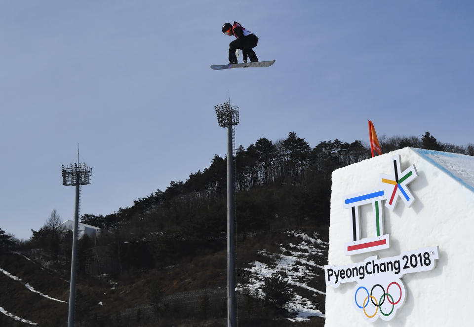
[(334, 171), (325, 326), (471, 325), (473, 215), (473, 156), (406, 147)]

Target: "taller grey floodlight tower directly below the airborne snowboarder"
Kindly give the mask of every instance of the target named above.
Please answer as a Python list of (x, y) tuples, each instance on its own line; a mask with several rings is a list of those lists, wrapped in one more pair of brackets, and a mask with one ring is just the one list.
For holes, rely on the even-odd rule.
[[(229, 100), (230, 102), (230, 100)], [(215, 106), (217, 122), (227, 127), (227, 326), (237, 327), (236, 301), (236, 218), (234, 207), (234, 150), (238, 107), (229, 102)]]

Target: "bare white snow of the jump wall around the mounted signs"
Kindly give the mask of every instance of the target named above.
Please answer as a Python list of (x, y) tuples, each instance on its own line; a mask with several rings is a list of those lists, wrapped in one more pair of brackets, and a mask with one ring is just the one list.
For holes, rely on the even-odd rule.
[[(389, 322), (378, 319), (369, 323), (357, 312), (353, 304), (355, 282), (338, 288), (326, 287), (325, 326), (470, 325), (474, 285), (474, 192), (469, 182), (453, 177), (426, 158), (423, 151), (406, 147), (333, 172), (329, 264), (346, 265), (362, 262), (371, 255), (391, 257), (434, 246), (438, 246), (439, 259), (433, 270), (406, 274), (402, 278), (406, 288), (405, 303)], [(442, 152), (433, 153), (442, 156)], [(416, 166), (418, 177), (408, 184), (415, 201), (407, 208), (398, 199), (392, 213), (383, 206), (384, 230), (390, 234), (390, 249), (346, 256), (344, 244), (352, 241), (352, 225), (350, 209), (343, 209), (343, 196), (377, 187), (380, 174), (392, 174), (394, 155), (401, 156), (402, 171), (410, 165)], [(474, 176), (473, 157), (449, 154), (449, 158), (451, 162), (467, 162), (453, 167), (457, 172), (467, 171)], [(374, 236), (371, 205), (361, 208), (361, 237)]]

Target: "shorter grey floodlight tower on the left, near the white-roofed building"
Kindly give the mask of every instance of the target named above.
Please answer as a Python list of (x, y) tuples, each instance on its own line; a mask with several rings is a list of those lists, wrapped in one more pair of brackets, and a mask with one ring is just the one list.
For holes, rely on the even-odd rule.
[[(79, 153), (78, 153), (79, 156)], [(76, 295), (76, 270), (77, 270), (77, 254), (78, 254), (78, 222), (79, 222), (79, 197), (80, 185), (90, 184), (92, 170), (85, 163), (72, 164), (64, 167), (62, 165), (63, 185), (76, 186), (76, 208), (74, 212), (74, 230), (73, 230), (73, 253), (71, 257), (71, 284), (69, 288), (69, 316), (68, 327), (74, 327), (74, 302)]]

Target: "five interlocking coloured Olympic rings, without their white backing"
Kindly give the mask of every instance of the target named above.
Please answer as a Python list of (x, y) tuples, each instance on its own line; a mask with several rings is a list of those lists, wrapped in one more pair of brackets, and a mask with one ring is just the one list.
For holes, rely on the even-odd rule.
[[(400, 281), (400, 283), (401, 283), (401, 281)], [(392, 294), (389, 293), (389, 290), (391, 289), (391, 287), (392, 287), (392, 291), (395, 290), (395, 292), (396, 292), (396, 288), (398, 287), (399, 296), (396, 300), (394, 299)], [(381, 289), (381, 292), (378, 291), (378, 289)], [(364, 298), (362, 305), (360, 305), (359, 302), (357, 302), (357, 293), (359, 291), (361, 291), (361, 292), (365, 291), (365, 293), (367, 294), (367, 296), (365, 296), (365, 297), (359, 297), (359, 300)], [(374, 291), (375, 291), (375, 293), (374, 293)], [(377, 293), (381, 294), (381, 296), (379, 298), (374, 295), (374, 294), (377, 294)], [(384, 317), (389, 317), (394, 312), (395, 305), (400, 303), (400, 301), (402, 300), (402, 297), (403, 297), (402, 287), (397, 282), (392, 282), (387, 286), (387, 290), (385, 290), (382, 285), (375, 284), (372, 287), (372, 289), (370, 290), (370, 293), (369, 293), (369, 291), (367, 290), (366, 287), (360, 286), (360, 287), (357, 288), (357, 290), (354, 294), (354, 301), (356, 303), (356, 306), (363, 310), (365, 316), (369, 319), (372, 319), (377, 315), (377, 313), (379, 311)], [(388, 303), (392, 305), (392, 309), (390, 310), (390, 312), (384, 312), (382, 310), (382, 305), (385, 303), (385, 300), (387, 300)], [(372, 315), (370, 315), (370, 313), (367, 312), (368, 310), (366, 310), (369, 303), (372, 303), (372, 305), (375, 307), (375, 312)], [(386, 310), (386, 311), (388, 311), (388, 310)], [(386, 318), (384, 320), (390, 320), (390, 319), (391, 318)]]

